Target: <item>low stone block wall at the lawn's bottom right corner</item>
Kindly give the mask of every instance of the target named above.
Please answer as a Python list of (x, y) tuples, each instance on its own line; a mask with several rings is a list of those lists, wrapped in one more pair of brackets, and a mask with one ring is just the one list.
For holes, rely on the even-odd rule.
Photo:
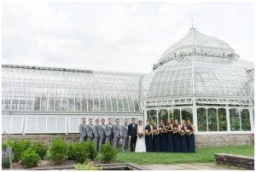
[(217, 163), (243, 167), (245, 169), (254, 169), (254, 158), (247, 156), (238, 156), (226, 153), (214, 153)]

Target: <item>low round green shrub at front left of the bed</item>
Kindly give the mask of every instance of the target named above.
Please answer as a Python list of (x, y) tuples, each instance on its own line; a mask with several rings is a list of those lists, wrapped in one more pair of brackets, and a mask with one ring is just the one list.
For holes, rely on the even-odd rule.
[(28, 148), (25, 152), (21, 153), (20, 163), (24, 168), (32, 168), (38, 165), (40, 156), (32, 148)]

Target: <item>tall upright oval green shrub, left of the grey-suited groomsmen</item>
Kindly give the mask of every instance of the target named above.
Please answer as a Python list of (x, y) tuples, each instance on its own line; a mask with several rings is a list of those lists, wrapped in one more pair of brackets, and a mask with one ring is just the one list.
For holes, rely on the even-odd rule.
[(49, 151), (53, 162), (59, 164), (61, 161), (67, 159), (67, 142), (63, 138), (57, 138), (51, 143)]

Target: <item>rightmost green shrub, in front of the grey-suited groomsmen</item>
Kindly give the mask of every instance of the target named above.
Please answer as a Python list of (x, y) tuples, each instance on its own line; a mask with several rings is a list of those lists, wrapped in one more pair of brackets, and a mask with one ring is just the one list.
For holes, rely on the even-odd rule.
[(117, 156), (117, 151), (115, 147), (111, 146), (109, 142), (101, 146), (102, 161), (104, 163), (109, 163), (113, 161)]

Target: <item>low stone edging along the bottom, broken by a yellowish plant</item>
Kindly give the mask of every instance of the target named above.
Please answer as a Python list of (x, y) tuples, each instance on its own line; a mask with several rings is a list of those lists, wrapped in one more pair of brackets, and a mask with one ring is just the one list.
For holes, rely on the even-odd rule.
[[(125, 170), (131, 169), (131, 170), (148, 170), (145, 167), (138, 166), (136, 163), (96, 163), (96, 167), (102, 167), (105, 170)], [(32, 169), (26, 169), (26, 170), (61, 170), (61, 169), (74, 169), (73, 165), (67, 165), (67, 166), (59, 166), (59, 167), (52, 167), (52, 168), (32, 168)]]

